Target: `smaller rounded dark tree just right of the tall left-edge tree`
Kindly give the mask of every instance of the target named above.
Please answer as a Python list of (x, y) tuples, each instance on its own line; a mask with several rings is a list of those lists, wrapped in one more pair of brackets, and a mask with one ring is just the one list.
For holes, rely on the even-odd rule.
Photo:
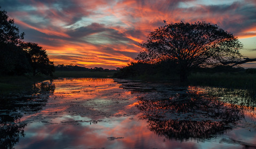
[(55, 71), (54, 64), (48, 58), (45, 49), (36, 43), (21, 43), (20, 47), (27, 53), (33, 69), (33, 76), (43, 73), (52, 76)]

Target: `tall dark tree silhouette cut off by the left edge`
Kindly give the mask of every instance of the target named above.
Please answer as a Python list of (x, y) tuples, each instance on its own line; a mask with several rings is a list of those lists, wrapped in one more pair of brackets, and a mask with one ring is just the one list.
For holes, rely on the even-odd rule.
[(0, 10), (0, 73), (23, 74), (30, 70), (26, 53), (18, 45), (22, 42), (24, 32), (14, 26), (6, 11)]

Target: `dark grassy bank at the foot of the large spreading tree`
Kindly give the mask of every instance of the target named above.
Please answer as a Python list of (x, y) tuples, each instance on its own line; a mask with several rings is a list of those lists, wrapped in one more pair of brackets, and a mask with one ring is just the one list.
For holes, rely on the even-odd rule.
[(178, 74), (170, 74), (170, 76), (163, 74), (143, 74), (126, 79), (152, 81), (152, 82), (173, 82), (180, 85), (194, 85), (194, 86), (214, 86), (225, 88), (239, 88), (239, 89), (255, 89), (256, 90), (256, 74), (246, 72), (196, 72), (190, 73), (188, 82), (180, 83)]

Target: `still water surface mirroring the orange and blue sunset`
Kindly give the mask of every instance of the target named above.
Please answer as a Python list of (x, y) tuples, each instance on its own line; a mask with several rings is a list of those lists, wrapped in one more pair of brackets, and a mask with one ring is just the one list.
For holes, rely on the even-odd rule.
[(71, 78), (1, 101), (0, 148), (256, 148), (248, 90)]

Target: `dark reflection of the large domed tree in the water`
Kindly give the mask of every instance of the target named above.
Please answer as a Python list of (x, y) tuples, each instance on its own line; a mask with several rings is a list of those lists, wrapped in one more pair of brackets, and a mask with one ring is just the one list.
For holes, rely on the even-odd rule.
[[(194, 90), (195, 91), (195, 90)], [(169, 139), (210, 138), (231, 129), (231, 124), (244, 117), (235, 105), (207, 98), (191, 89), (170, 98), (147, 100), (139, 98), (141, 118), (148, 119), (148, 127), (159, 136)], [(166, 96), (165, 96), (166, 97)]]

